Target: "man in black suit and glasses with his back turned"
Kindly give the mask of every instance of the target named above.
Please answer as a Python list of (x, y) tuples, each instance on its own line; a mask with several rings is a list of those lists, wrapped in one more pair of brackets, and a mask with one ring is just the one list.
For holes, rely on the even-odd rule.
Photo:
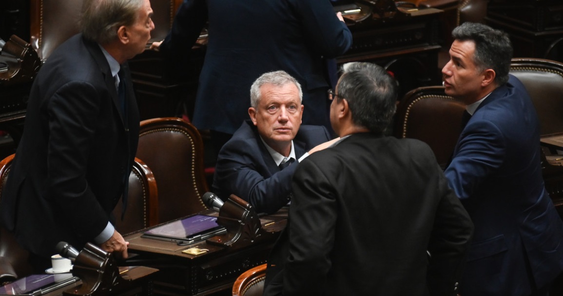
[(265, 295), (457, 294), (473, 226), (430, 147), (383, 134), (396, 97), (381, 67), (344, 65), (341, 140), (297, 167)]

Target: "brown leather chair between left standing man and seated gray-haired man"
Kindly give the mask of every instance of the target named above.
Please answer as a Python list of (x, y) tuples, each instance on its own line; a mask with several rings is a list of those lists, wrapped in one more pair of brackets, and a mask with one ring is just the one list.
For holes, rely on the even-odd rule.
[(137, 158), (157, 181), (160, 223), (207, 209), (203, 141), (191, 123), (176, 117), (143, 120)]

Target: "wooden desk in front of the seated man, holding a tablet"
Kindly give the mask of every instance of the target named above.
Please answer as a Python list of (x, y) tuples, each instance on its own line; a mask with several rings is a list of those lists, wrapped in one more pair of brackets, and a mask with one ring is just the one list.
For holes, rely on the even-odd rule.
[[(200, 214), (217, 216), (214, 210)], [(236, 277), (244, 271), (266, 263), (270, 249), (287, 223), (287, 210), (260, 219), (263, 230), (270, 236), (248, 245), (219, 246), (202, 241), (179, 246), (171, 241), (141, 237), (142, 231), (124, 237), (129, 241), (129, 265), (158, 268), (154, 293), (166, 295), (209, 295), (230, 290)], [(200, 255), (182, 251), (190, 248), (207, 249)]]

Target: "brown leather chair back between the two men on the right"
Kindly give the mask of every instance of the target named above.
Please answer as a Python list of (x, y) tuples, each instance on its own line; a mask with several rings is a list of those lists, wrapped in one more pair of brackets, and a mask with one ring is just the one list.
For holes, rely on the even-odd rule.
[(397, 106), (394, 136), (426, 142), (445, 167), (461, 133), (465, 105), (444, 93), (444, 87), (420, 87), (408, 92)]

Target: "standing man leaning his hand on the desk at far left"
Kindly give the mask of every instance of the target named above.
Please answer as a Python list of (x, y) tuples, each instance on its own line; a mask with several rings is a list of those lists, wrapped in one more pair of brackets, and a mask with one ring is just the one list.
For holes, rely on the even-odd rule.
[(84, 1), (82, 33), (49, 56), (33, 83), (0, 216), (36, 268), (50, 265), (60, 241), (127, 257), (110, 222), (138, 141), (126, 61), (145, 50), (152, 15), (149, 0)]

